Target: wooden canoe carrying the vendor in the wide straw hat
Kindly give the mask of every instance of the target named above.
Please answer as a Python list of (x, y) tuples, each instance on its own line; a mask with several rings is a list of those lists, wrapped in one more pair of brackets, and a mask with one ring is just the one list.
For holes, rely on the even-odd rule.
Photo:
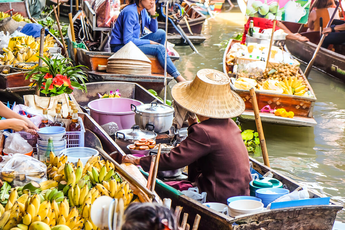
[[(83, 118), (85, 128), (94, 132), (101, 140), (103, 149), (109, 153), (113, 159), (121, 163), (122, 156), (124, 156), (125, 153), (117, 146), (114, 140), (112, 140), (88, 114), (80, 113), (79, 116)], [(253, 169), (258, 173), (264, 175), (269, 171), (272, 172), (273, 178), (285, 184), (286, 188), (291, 192), (299, 190), (302, 187), (301, 184), (285, 177), (273, 169), (263, 166), (260, 162), (252, 158), (250, 158), (250, 161), (253, 163)], [(157, 179), (156, 192), (161, 198), (170, 198), (173, 208), (182, 206), (183, 212), (189, 214), (189, 224), (193, 224), (196, 214), (199, 214), (201, 216), (199, 230), (252, 230), (260, 228), (270, 230), (331, 230), (337, 212), (343, 208), (341, 205), (332, 201), (329, 205), (280, 208), (248, 214), (238, 218), (231, 218), (186, 197), (183, 193), (168, 186), (159, 179)], [(322, 197), (321, 194), (311, 190), (309, 190), (309, 195), (311, 198)], [(238, 225), (233, 225), (235, 222)]]

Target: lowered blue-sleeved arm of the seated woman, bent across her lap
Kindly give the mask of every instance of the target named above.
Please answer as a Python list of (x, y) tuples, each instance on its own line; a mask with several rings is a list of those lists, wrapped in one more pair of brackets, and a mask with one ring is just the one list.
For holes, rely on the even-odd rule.
[(124, 43), (127, 44), (128, 42), (133, 42), (136, 46), (150, 44), (150, 40), (148, 39), (139, 39), (133, 37), (133, 28), (136, 24), (136, 15), (132, 11), (126, 12), (124, 15), (124, 32), (123, 32), (123, 40)]

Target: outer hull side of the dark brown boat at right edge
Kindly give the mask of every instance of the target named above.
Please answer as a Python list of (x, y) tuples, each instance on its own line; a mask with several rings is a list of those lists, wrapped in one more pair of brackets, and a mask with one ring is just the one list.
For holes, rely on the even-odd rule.
[[(293, 56), (304, 63), (308, 63), (317, 47), (312, 42), (300, 42), (296, 40), (286, 40), (286, 47)], [(327, 73), (329, 76), (345, 82), (345, 56), (331, 50), (320, 48), (314, 61), (313, 67)]]

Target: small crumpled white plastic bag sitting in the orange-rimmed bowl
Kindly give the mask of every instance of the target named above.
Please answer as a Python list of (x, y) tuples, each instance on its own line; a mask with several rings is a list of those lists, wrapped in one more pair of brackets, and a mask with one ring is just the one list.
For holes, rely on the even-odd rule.
[(3, 134), (7, 136), (3, 152), (22, 154), (32, 152), (32, 146), (19, 133), (3, 132)]

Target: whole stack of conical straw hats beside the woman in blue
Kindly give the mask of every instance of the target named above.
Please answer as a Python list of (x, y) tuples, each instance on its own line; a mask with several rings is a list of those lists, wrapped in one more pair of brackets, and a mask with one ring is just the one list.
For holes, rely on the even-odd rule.
[(150, 75), (151, 61), (130, 41), (108, 58), (107, 73)]

